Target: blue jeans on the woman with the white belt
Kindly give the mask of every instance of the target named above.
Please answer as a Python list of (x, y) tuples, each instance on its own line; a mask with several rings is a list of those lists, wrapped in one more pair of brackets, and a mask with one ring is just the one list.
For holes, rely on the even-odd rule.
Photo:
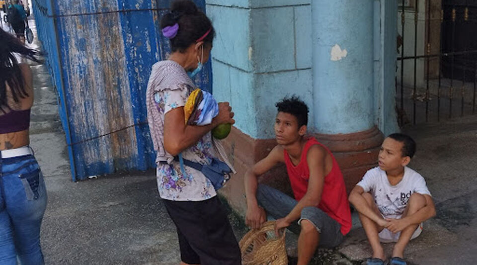
[(45, 181), (32, 155), (0, 155), (0, 264), (43, 265), (40, 227), (46, 209)]

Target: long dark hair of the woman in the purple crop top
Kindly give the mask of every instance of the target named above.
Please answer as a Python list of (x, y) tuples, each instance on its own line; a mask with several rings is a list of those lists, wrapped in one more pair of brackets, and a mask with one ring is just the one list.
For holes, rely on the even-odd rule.
[(10, 109), (6, 98), (5, 84), (8, 84), (14, 102), (29, 96), (25, 90), (23, 75), (14, 53), (40, 63), (36, 58), (40, 55), (39, 51), (27, 48), (18, 38), (0, 28), (0, 113)]

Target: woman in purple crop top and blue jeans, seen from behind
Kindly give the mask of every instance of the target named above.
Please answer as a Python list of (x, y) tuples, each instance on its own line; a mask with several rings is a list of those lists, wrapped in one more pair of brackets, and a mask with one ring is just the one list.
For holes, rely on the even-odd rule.
[(43, 265), (40, 226), (46, 188), (30, 143), (33, 84), (30, 67), (38, 52), (0, 28), (0, 264)]

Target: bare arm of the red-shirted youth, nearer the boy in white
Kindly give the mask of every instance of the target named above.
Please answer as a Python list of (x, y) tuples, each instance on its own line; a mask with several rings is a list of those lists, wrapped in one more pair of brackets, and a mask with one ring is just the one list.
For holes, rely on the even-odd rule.
[(310, 178), (308, 180), (307, 192), (292, 211), (286, 217), (282, 218), (283, 220), (277, 220), (277, 230), (287, 227), (293, 221), (300, 218), (303, 208), (307, 206), (318, 206), (321, 199), (321, 192), (323, 191), (326, 154), (326, 150), (318, 145), (311, 147), (308, 151), (307, 162), (310, 170)]

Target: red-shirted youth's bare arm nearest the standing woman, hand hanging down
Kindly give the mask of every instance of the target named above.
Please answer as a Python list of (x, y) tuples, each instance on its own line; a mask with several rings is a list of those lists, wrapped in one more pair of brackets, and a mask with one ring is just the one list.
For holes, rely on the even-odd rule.
[(256, 191), (258, 186), (257, 177), (265, 174), (280, 162), (284, 162), (283, 148), (275, 146), (267, 157), (257, 162), (245, 173), (243, 177), (245, 185), (245, 195), (247, 200), (247, 213), (245, 224), (252, 228), (259, 228), (266, 221), (266, 216), (262, 216), (262, 211), (258, 207)]

